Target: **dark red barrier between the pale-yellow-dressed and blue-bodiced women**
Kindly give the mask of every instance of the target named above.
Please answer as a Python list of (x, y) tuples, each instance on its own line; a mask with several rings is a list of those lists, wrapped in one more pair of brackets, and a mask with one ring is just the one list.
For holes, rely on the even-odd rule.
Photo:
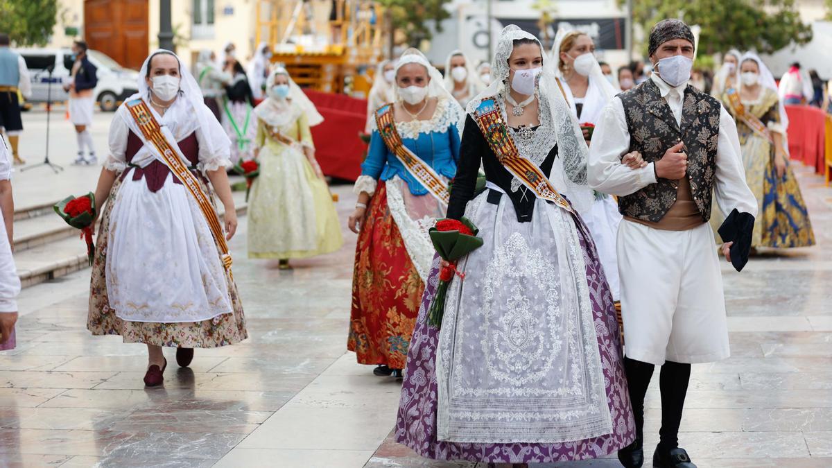
[(305, 89), (324, 122), (312, 127), (315, 157), (324, 174), (354, 181), (361, 175), (366, 145), (359, 138), (367, 122), (367, 101)]

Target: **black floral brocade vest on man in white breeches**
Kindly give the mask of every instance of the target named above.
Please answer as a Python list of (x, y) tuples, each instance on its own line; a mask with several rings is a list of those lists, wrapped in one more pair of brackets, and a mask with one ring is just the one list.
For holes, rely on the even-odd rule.
[[(631, 152), (641, 152), (646, 162), (656, 162), (680, 139), (685, 142), (693, 201), (702, 221), (708, 222), (720, 135), (720, 102), (695, 87), (686, 87), (680, 129), (659, 87), (651, 79), (618, 97), (624, 104)], [(660, 222), (676, 202), (678, 185), (676, 181), (659, 178), (655, 184), (618, 198), (618, 210), (626, 217)]]

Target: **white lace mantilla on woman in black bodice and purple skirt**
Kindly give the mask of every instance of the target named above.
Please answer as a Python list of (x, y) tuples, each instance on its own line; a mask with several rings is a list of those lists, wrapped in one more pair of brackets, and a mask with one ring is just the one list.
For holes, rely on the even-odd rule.
[[(503, 28), (491, 61), (491, 85), (468, 102), (466, 112), (473, 115), (484, 99), (496, 97), (498, 106), (503, 109), (503, 119), (506, 118), (503, 102), (505, 93), (508, 92), (508, 57), (514, 49), (514, 41), (518, 39), (532, 39), (540, 47), (543, 57), (543, 69), (538, 75), (535, 91), (540, 112), (540, 127), (527, 141), (524, 141), (522, 131), (510, 128), (509, 135), (513, 137), (520, 155), (537, 165), (546, 159), (552, 147), (557, 144), (557, 157), (552, 165), (549, 180), (557, 192), (567, 197), (572, 202), (572, 207), (584, 216), (592, 209), (595, 200), (592, 189), (587, 186), (587, 143), (584, 142), (577, 119), (572, 116), (571, 109), (557, 85), (554, 61), (547, 60), (547, 54), (537, 37), (514, 24)], [(517, 192), (523, 189), (521, 182), (515, 178), (512, 190)]]

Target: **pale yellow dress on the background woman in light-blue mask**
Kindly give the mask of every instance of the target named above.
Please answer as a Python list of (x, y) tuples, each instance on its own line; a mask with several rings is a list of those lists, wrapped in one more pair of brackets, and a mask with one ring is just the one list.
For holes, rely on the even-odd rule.
[(303, 153), (314, 149), (306, 115), (272, 128), (294, 140), (286, 145), (257, 119), (260, 176), (251, 186), (248, 246), (250, 258), (306, 258), (344, 245), (329, 187), (314, 173)]

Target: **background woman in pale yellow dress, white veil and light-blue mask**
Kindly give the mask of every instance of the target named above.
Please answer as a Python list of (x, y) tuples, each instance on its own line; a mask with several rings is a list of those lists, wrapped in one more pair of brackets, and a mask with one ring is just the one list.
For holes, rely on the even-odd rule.
[(260, 176), (251, 185), (249, 257), (307, 258), (344, 245), (329, 187), (314, 158), (310, 126), (324, 121), (283, 67), (255, 107)]

